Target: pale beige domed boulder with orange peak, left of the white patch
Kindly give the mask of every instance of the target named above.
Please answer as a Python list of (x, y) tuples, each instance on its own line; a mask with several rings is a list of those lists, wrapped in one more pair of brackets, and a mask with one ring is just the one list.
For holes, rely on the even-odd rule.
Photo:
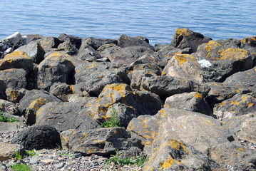
[(187, 80), (202, 83), (203, 73), (198, 61), (188, 54), (175, 55), (168, 61), (163, 69), (163, 76), (185, 78)]

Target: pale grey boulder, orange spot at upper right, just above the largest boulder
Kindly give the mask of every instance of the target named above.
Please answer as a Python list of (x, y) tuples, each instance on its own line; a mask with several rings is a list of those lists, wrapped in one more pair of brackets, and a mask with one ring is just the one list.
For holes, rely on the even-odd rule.
[(166, 98), (164, 108), (177, 108), (213, 116), (204, 96), (198, 92), (172, 95)]

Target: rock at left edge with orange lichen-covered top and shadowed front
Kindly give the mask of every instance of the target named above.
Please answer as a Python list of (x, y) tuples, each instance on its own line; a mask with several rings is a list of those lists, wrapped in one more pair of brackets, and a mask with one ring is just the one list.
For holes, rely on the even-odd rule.
[(33, 58), (22, 51), (14, 51), (0, 60), (0, 71), (11, 68), (23, 68), (25, 71), (32, 71), (34, 68)]

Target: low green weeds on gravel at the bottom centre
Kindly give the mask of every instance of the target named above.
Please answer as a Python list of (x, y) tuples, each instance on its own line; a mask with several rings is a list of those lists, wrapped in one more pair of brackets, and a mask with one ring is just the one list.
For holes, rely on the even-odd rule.
[(136, 156), (131, 158), (123, 158), (119, 154), (119, 150), (116, 150), (116, 155), (111, 155), (112, 157), (106, 160), (106, 164), (114, 162), (116, 165), (138, 165), (143, 167), (144, 163), (148, 160), (145, 156)]

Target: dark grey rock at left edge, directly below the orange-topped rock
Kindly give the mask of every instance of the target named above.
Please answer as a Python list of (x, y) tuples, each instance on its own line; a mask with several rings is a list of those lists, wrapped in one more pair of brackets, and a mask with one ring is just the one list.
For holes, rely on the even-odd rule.
[(7, 88), (26, 88), (27, 72), (24, 69), (6, 69), (0, 71), (0, 79), (6, 83)]

